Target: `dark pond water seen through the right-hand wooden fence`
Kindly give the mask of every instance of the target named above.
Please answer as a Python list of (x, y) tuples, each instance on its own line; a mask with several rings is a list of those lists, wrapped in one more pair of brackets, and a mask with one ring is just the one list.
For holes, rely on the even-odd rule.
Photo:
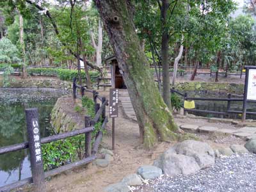
[[(204, 98), (227, 98), (225, 93), (214, 93), (214, 92), (189, 92), (189, 97), (204, 97)], [(243, 98), (239, 95), (232, 95), (232, 98)], [(195, 109), (208, 110), (208, 111), (227, 111), (227, 101), (212, 101), (212, 100), (195, 100)], [(231, 111), (242, 111), (243, 102), (232, 101), (230, 104)], [(256, 103), (248, 102), (247, 111), (256, 112)], [(189, 112), (190, 114), (196, 116), (207, 116), (207, 117), (218, 117), (218, 118), (233, 118), (241, 119), (241, 114), (228, 114), (228, 115), (216, 115), (211, 113), (202, 113), (202, 112)], [(246, 115), (246, 119), (256, 120), (256, 115)]]

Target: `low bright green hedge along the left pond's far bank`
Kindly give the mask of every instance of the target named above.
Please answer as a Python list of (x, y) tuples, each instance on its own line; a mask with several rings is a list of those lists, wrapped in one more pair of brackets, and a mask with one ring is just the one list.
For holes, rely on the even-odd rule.
[[(28, 74), (33, 76), (39, 74), (41, 76), (57, 76), (63, 81), (72, 81), (74, 77), (78, 76), (77, 70), (71, 70), (66, 68), (28, 68)], [(81, 71), (81, 76), (85, 77), (85, 72)], [(90, 77), (99, 76), (97, 71), (89, 71)]]

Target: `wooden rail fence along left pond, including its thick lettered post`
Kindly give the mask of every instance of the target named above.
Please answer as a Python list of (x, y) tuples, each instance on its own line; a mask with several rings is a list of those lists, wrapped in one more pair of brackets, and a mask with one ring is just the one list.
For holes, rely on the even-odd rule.
[[(82, 166), (84, 164), (91, 163), (97, 157), (97, 152), (99, 150), (99, 145), (102, 140), (103, 133), (102, 131), (106, 129), (106, 124), (108, 123), (108, 117), (106, 116), (106, 106), (108, 106), (108, 100), (105, 97), (100, 97), (99, 93), (95, 90), (88, 90), (86, 86), (79, 86), (75, 83), (73, 84), (73, 98), (77, 98), (76, 89), (80, 88), (82, 96), (84, 92), (90, 92), (93, 94), (93, 102), (95, 106), (95, 116), (92, 119), (90, 116), (84, 116), (84, 127), (81, 129), (65, 132), (62, 134), (56, 134), (52, 136), (48, 136), (46, 138), (40, 139), (40, 132), (39, 124), (38, 124), (38, 109), (26, 109), (26, 122), (27, 122), (27, 129), (28, 129), (28, 141), (10, 145), (7, 147), (0, 148), (0, 155), (6, 154), (9, 152), (15, 152), (17, 150), (22, 150), (25, 148), (29, 148), (30, 159), (31, 159), (31, 170), (32, 170), (32, 177), (27, 179), (19, 180), (12, 184), (8, 184), (6, 186), (0, 187), (0, 191), (10, 191), (15, 188), (20, 188), (25, 184), (33, 183), (35, 186), (36, 192), (44, 192), (45, 191), (45, 178), (57, 175), (61, 172), (65, 172), (67, 170), (71, 170), (78, 166)], [(97, 99), (101, 101), (97, 103)], [(101, 118), (100, 118), (101, 117)], [(95, 124), (99, 121), (102, 121), (102, 126), (99, 132), (97, 132), (97, 136), (95, 141), (92, 143), (92, 131), (95, 129)], [(44, 172), (43, 168), (43, 160), (42, 160), (42, 150), (41, 144), (50, 143), (52, 141), (63, 140), (65, 138), (70, 138), (73, 136), (77, 136), (79, 134), (85, 134), (85, 151), (84, 151), (84, 159), (76, 161), (74, 163), (66, 164), (64, 166), (60, 166), (59, 168), (55, 168), (48, 172)], [(35, 140), (36, 138), (36, 140)], [(36, 142), (36, 143), (35, 143)], [(39, 159), (40, 155), (40, 159)], [(38, 161), (37, 161), (38, 160)], [(40, 161), (39, 161), (40, 160)], [(6, 160), (8, 161), (8, 160)]]

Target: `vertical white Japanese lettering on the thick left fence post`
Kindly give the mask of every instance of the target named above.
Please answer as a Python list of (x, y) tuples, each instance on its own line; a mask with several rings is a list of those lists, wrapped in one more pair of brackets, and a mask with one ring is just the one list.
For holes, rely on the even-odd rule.
[(42, 162), (42, 151), (41, 151), (41, 143), (40, 143), (40, 130), (38, 126), (38, 120), (36, 118), (32, 119), (32, 127), (33, 127), (33, 138), (34, 138), (34, 146), (35, 146), (35, 156), (36, 163)]

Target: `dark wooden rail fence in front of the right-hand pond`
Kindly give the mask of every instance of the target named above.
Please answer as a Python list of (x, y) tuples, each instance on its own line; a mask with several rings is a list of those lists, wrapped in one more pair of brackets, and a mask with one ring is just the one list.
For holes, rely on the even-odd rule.
[[(231, 94), (228, 94), (227, 98), (204, 98), (204, 97), (189, 97), (188, 93), (180, 93), (174, 88), (171, 89), (171, 93), (177, 93), (180, 95), (184, 100), (207, 100), (207, 101), (227, 101), (227, 110), (226, 111), (209, 111), (209, 110), (201, 110), (201, 109), (185, 109), (184, 108), (184, 115), (186, 115), (188, 112), (201, 112), (201, 113), (210, 113), (210, 114), (216, 114), (216, 115), (228, 115), (231, 113), (235, 114), (249, 114), (249, 115), (256, 115), (256, 112), (250, 112), (250, 111), (234, 111), (231, 110), (231, 102), (232, 101), (240, 101), (243, 102), (243, 98), (232, 98)], [(255, 102), (255, 100), (247, 100), (247, 102)], [(184, 106), (183, 106), (184, 107)], [(243, 114), (244, 115), (244, 114)]]

